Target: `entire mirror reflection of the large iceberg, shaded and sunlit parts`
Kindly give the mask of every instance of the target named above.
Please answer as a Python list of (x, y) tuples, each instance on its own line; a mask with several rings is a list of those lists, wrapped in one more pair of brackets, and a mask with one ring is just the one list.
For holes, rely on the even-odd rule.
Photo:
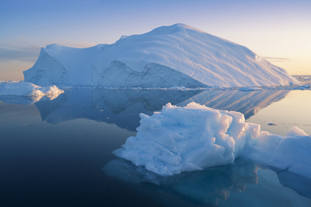
[[(288, 90), (125, 90), (125, 89), (71, 89), (53, 100), (35, 102), (41, 119), (48, 123), (59, 123), (77, 118), (104, 121), (121, 128), (135, 131), (140, 126), (139, 114), (153, 115), (162, 106), (171, 103), (186, 106), (196, 102), (219, 110), (234, 110), (245, 115), (245, 119), (256, 114), (274, 101), (288, 95)], [(6, 103), (29, 104), (21, 97), (0, 97)], [(131, 121), (129, 121), (131, 120)]]

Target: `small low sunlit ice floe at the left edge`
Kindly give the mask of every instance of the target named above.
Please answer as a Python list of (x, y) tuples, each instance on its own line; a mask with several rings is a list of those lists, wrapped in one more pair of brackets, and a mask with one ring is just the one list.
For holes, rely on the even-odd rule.
[(26, 82), (12, 82), (0, 83), (0, 95), (17, 95), (26, 97), (42, 97), (55, 96), (63, 93), (64, 90), (56, 86), (36, 86), (33, 83)]

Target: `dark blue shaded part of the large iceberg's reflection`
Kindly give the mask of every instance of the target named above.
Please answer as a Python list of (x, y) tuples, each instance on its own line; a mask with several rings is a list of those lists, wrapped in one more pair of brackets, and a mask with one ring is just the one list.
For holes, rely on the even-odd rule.
[(152, 115), (167, 101), (179, 103), (200, 91), (72, 89), (53, 101), (35, 103), (41, 118), (59, 123), (77, 118), (91, 119), (135, 131), (141, 112)]

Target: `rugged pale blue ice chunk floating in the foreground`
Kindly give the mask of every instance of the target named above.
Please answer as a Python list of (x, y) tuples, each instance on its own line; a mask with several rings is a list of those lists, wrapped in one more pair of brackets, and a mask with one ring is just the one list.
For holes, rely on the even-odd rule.
[(158, 175), (232, 164), (249, 157), (262, 164), (311, 177), (311, 137), (292, 128), (286, 137), (246, 123), (243, 114), (215, 110), (198, 103), (167, 103), (162, 112), (141, 114), (136, 137), (114, 154)]

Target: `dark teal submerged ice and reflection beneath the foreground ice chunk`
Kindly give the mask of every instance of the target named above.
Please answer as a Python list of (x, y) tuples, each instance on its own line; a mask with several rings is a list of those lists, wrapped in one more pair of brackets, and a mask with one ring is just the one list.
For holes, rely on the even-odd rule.
[[(171, 177), (161, 177), (130, 161), (114, 159), (103, 168), (106, 175), (122, 181), (144, 186), (149, 190), (162, 191), (203, 206), (308, 206), (311, 200), (303, 196), (311, 193), (310, 180), (296, 183), (299, 175), (282, 175), (259, 168), (249, 159), (236, 159), (234, 164), (216, 166), (195, 172), (185, 172)], [(286, 186), (281, 184), (286, 180)], [(292, 182), (290, 182), (292, 180)], [(293, 181), (294, 180), (294, 181)], [(259, 181), (259, 183), (258, 183)], [(284, 184), (283, 184), (284, 185)], [(292, 189), (290, 189), (292, 188)], [(271, 199), (273, 198), (273, 199)]]

